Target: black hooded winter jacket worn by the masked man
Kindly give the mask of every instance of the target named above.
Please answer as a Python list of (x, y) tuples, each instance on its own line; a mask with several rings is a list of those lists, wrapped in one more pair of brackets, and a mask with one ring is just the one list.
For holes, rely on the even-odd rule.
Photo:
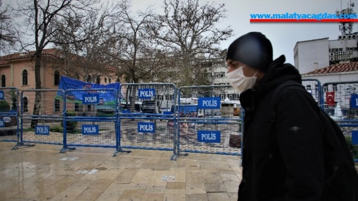
[(283, 89), (275, 133), (269, 130), (275, 88), (285, 81), (302, 82), (294, 66), (284, 62), (284, 55), (277, 58), (254, 88), (240, 95), (245, 111), (240, 201), (322, 200), (325, 153), (318, 107), (310, 94)]

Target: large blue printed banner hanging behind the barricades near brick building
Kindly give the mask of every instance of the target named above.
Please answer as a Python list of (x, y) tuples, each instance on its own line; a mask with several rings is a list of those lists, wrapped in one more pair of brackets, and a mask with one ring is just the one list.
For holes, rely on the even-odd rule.
[[(75, 80), (72, 78), (68, 78), (66, 76), (61, 76), (59, 89), (63, 91), (66, 90), (78, 90), (78, 89), (103, 89), (103, 90), (96, 90), (96, 91), (85, 91), (85, 93), (97, 93), (101, 94), (101, 98), (107, 101), (115, 101), (116, 100), (116, 92), (118, 91), (120, 85), (119, 83), (111, 83), (108, 85), (102, 84), (95, 84), (95, 83), (87, 83), (82, 82), (80, 80)], [(115, 91), (109, 90), (114, 89)], [(66, 93), (66, 98), (69, 101), (82, 101), (82, 94), (83, 91), (71, 91), (71, 93)], [(57, 93), (57, 96), (62, 96), (62, 91)], [(124, 98), (123, 94), (121, 94), (121, 99)]]

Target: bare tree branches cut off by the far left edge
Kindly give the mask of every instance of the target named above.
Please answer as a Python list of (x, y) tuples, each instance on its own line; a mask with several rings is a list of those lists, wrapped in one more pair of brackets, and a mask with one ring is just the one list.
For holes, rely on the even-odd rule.
[(16, 17), (10, 5), (3, 5), (0, 0), (0, 56), (2, 51), (8, 51), (15, 45), (16, 29), (13, 19)]

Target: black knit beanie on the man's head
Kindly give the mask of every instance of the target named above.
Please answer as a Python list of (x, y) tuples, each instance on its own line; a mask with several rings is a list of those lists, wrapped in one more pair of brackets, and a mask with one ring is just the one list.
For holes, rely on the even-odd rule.
[(273, 61), (272, 44), (262, 33), (249, 32), (230, 44), (229, 58), (265, 72)]

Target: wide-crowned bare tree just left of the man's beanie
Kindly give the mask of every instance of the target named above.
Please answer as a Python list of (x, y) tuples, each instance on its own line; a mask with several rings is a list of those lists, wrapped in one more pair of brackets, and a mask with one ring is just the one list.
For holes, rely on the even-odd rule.
[(163, 47), (172, 49), (176, 58), (176, 73), (181, 85), (206, 85), (205, 68), (198, 68), (201, 62), (213, 63), (220, 56), (221, 41), (233, 35), (228, 27), (216, 26), (226, 18), (225, 5), (216, 5), (202, 0), (164, 0), (164, 15), (151, 24), (151, 34)]

